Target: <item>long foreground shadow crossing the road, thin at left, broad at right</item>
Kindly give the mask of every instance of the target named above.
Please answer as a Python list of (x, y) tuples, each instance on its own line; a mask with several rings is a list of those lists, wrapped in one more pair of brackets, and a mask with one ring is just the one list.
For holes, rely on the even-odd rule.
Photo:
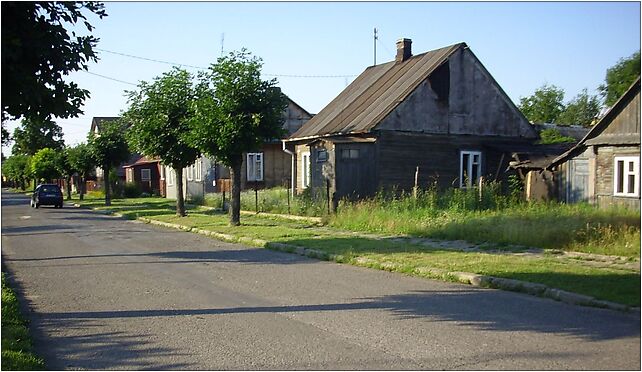
[(227, 314), (260, 313), (365, 312), (365, 316), (368, 316), (373, 310), (387, 312), (399, 321), (418, 318), (425, 322), (453, 322), (456, 326), (496, 332), (553, 333), (594, 341), (640, 335), (639, 314), (588, 309), (578, 316), (578, 309), (572, 306), (487, 290), (415, 291), (353, 299), (345, 303), (309, 305), (56, 312), (42, 314), (42, 319), (55, 324), (61, 320), (180, 319), (191, 316), (217, 317)]

